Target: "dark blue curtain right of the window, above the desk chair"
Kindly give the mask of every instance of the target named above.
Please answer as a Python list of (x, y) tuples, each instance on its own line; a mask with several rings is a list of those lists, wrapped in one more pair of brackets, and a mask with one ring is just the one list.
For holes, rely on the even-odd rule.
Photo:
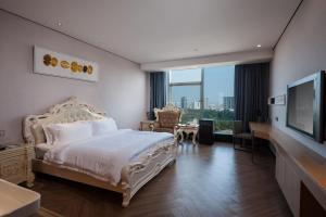
[(269, 63), (236, 65), (235, 119), (242, 120), (249, 131), (249, 122), (268, 119)]

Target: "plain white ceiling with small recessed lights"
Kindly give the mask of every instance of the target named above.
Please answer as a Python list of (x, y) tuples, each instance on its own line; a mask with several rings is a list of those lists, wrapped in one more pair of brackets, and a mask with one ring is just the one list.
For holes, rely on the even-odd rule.
[[(137, 63), (273, 48), (300, 0), (1, 0)], [(59, 25), (59, 22), (61, 25)]]

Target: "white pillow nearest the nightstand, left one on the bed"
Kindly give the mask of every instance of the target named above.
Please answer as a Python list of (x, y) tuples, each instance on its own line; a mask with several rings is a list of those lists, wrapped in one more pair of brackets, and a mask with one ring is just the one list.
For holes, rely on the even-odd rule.
[(52, 144), (67, 144), (92, 137), (91, 125), (86, 122), (53, 124), (46, 127), (52, 136)]

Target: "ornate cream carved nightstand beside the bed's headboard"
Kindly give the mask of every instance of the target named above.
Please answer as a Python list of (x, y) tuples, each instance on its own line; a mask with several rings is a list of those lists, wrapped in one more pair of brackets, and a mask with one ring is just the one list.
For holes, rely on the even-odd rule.
[(34, 146), (30, 144), (10, 144), (0, 151), (0, 178), (12, 183), (26, 182), (33, 187), (34, 174), (32, 158), (35, 157)]

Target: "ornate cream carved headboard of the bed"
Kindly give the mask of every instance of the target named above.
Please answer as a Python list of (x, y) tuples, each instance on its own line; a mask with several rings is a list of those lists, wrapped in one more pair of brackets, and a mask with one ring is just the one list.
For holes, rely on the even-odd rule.
[(92, 105), (80, 103), (77, 98), (72, 97), (52, 106), (46, 114), (28, 115), (23, 122), (23, 137), (27, 143), (42, 143), (46, 142), (42, 125), (95, 120), (105, 118), (105, 113), (97, 111)]

